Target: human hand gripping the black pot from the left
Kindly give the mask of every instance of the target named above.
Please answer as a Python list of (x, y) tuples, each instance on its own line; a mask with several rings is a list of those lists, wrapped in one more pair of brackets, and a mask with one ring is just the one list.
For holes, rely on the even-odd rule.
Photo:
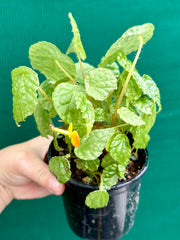
[(30, 141), (0, 150), (0, 213), (13, 199), (61, 195), (60, 184), (43, 162), (51, 138)]

